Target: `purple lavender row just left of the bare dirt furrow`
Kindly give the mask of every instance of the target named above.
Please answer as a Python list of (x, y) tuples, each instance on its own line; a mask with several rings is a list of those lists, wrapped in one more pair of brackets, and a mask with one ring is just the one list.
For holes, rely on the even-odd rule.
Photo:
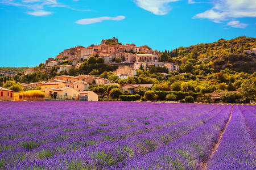
[(206, 124), (154, 152), (125, 163), (124, 169), (200, 169), (230, 116), (229, 105)]

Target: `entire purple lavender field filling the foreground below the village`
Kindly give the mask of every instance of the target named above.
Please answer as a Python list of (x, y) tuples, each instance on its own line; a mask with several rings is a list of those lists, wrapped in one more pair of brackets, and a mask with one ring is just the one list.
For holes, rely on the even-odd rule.
[(255, 169), (255, 105), (2, 102), (0, 169)]

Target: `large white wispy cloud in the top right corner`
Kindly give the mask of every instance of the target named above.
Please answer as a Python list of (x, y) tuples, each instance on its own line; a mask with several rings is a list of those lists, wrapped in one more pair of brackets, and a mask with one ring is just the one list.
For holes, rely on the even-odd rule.
[[(255, 16), (255, 0), (213, 0), (212, 8), (205, 12), (195, 15), (193, 18), (209, 19), (215, 23), (222, 23), (228, 20), (232, 20), (231, 23), (234, 23), (233, 19)], [(236, 20), (236, 22), (239, 21)], [(247, 26), (247, 24), (240, 24), (242, 24), (242, 26), (240, 25), (240, 27), (236, 28), (245, 28)], [(232, 26), (232, 24), (229, 25)]]

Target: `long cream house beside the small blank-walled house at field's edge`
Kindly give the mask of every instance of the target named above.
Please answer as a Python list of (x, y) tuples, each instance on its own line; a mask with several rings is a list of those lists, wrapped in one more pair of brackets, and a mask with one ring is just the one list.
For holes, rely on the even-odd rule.
[(46, 98), (63, 99), (63, 100), (78, 100), (79, 92), (72, 87), (50, 88), (46, 87)]

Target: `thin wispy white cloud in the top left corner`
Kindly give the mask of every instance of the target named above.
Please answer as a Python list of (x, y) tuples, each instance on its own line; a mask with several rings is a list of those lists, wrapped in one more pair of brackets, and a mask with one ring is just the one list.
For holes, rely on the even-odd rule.
[(89, 11), (89, 10), (77, 10), (62, 3), (57, 2), (56, 0), (0, 0), (0, 4), (10, 5), (16, 7), (26, 8), (26, 12), (29, 15), (34, 16), (45, 16), (50, 15), (52, 11), (46, 11), (44, 8), (53, 8), (53, 7), (64, 7), (76, 11)]

